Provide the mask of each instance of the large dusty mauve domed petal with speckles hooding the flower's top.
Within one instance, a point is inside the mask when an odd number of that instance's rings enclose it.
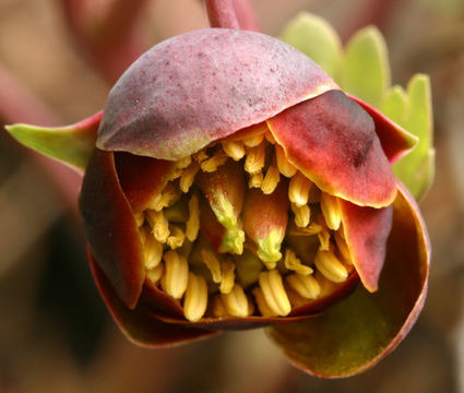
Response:
[[[336,84],[289,45],[209,28],[160,43],[112,87],[97,146],[178,159]]]

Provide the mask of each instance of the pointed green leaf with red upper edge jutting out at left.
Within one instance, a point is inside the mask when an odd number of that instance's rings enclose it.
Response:
[[[103,112],[67,127],[38,127],[29,124],[5,126],[23,145],[58,159],[82,172],[95,148],[97,129]]]

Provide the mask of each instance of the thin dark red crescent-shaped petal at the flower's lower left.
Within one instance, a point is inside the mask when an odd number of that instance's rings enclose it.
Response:
[[[112,289],[111,284],[91,252],[88,252],[88,261],[95,283],[111,317],[122,333],[135,344],[162,347],[217,334],[217,332],[211,330],[185,327],[179,324],[162,322],[151,315],[143,306],[138,306],[133,310],[129,309]]]

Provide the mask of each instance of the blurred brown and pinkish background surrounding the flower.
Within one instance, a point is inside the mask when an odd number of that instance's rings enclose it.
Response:
[[[207,26],[200,1],[134,0],[139,13],[124,11],[102,27],[116,2],[0,0],[0,124],[88,117],[130,59]],[[437,177],[421,209],[433,251],[418,323],[380,365],[346,380],[294,369],[260,330],[139,348],[112,323],[94,287],[75,209],[79,178],[0,131],[0,393],[464,392],[464,1],[251,2],[270,35],[302,10],[325,17],[345,41],[376,24],[393,83],[430,74]],[[120,35],[128,25],[131,33]],[[95,37],[118,45],[106,50]]]

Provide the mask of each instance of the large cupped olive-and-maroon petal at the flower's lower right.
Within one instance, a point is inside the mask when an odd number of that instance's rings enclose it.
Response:
[[[269,333],[295,365],[320,377],[347,377],[391,353],[416,321],[427,293],[429,239],[419,210],[403,186],[379,291],[362,287],[312,320]]]

